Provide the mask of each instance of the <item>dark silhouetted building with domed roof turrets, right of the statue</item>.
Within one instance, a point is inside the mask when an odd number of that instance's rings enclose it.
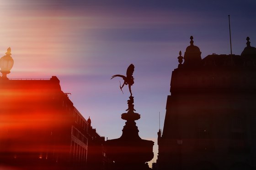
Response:
[[[256,168],[256,48],[238,55],[208,55],[187,47],[172,72],[159,170]],[[183,62],[183,63],[182,63]]]

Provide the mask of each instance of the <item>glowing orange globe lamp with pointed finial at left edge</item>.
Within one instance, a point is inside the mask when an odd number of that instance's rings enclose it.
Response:
[[[2,80],[9,80],[9,78],[6,77],[6,75],[10,73],[13,63],[14,61],[11,57],[11,48],[9,47],[7,49],[7,52],[5,52],[5,56],[0,58],[0,72],[2,73]]]

